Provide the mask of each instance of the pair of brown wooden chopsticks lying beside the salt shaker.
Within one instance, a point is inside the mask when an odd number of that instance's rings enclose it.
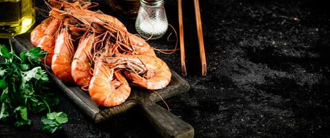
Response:
[[[199,37],[199,55],[201,57],[202,75],[206,75],[206,58],[203,40],[203,30],[201,26],[201,12],[199,10],[199,0],[194,0],[197,34]],[[181,69],[183,76],[187,75],[185,68],[185,43],[183,37],[183,18],[182,18],[182,0],[178,0],[178,28],[180,32],[180,51],[181,51]]]

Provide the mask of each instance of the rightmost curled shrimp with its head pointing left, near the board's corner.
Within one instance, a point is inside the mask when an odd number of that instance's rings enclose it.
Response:
[[[125,69],[127,79],[149,90],[165,88],[172,73],[167,64],[158,57],[149,55],[120,55],[105,57],[111,68]]]

